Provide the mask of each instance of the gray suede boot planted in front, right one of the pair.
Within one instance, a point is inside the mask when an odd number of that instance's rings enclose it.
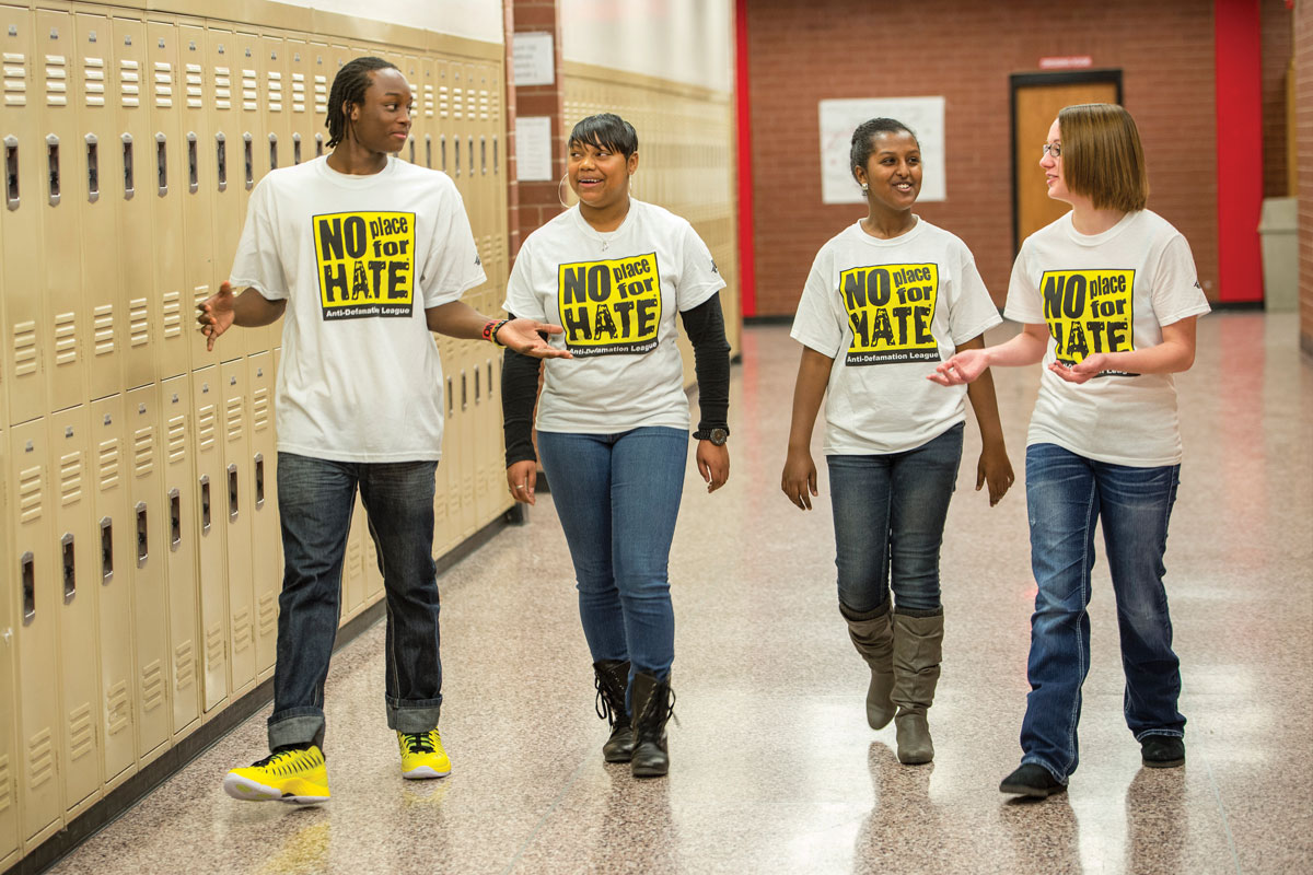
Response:
[[[926,711],[935,701],[943,657],[944,615],[909,617],[894,613],[894,689],[898,706],[898,762],[916,765],[935,758]]]

